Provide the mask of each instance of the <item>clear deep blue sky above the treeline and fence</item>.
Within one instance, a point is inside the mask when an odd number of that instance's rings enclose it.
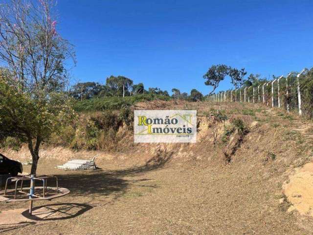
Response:
[[[57,14],[75,46],[75,80],[124,75],[207,94],[213,64],[264,77],[313,67],[312,0],[59,0]]]

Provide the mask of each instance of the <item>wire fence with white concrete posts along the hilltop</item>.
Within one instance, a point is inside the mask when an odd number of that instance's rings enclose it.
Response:
[[[313,118],[313,68],[291,72],[267,81],[256,80],[251,86],[221,91],[207,96],[211,102],[247,102],[278,107]]]

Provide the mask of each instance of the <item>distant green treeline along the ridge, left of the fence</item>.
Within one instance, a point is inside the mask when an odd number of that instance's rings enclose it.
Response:
[[[190,94],[187,94],[173,88],[172,93],[170,96],[167,91],[157,87],[146,90],[143,83],[134,84],[133,80],[124,76],[110,76],[105,85],[97,82],[79,82],[68,91],[69,96],[76,100],[73,102],[73,107],[78,112],[117,110],[123,105],[154,99],[175,98],[189,101],[203,99],[203,94],[196,89],[192,89]]]

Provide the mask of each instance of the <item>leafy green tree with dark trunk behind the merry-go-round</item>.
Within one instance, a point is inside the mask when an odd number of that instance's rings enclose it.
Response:
[[[0,77],[0,138],[14,137],[28,143],[35,174],[39,160],[39,149],[52,132],[57,132],[60,123],[75,117],[65,95],[49,93],[49,97],[34,98],[29,93],[19,92],[12,83],[14,79]]]

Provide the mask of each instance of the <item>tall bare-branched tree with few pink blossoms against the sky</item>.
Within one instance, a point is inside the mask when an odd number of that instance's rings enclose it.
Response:
[[[62,89],[73,47],[56,31],[52,0],[11,0],[0,5],[0,60],[21,92],[42,96]],[[39,93],[41,95],[39,95]]]

